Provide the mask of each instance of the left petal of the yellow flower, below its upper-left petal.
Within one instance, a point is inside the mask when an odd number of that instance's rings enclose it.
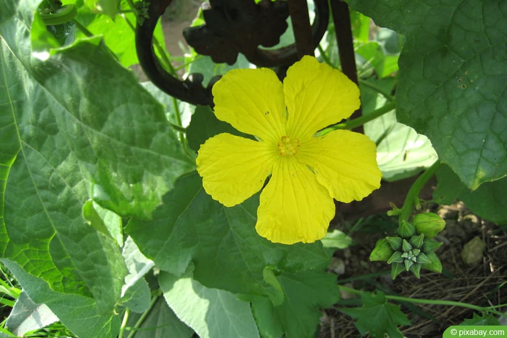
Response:
[[[276,149],[266,142],[222,133],[199,148],[197,171],[206,193],[226,207],[261,190],[270,174]]]

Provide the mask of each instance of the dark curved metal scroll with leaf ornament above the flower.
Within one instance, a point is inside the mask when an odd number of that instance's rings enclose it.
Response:
[[[262,0],[210,0],[211,7],[203,10],[206,24],[184,30],[185,39],[203,55],[211,56],[216,63],[235,62],[238,53],[258,66],[288,66],[298,60],[296,45],[276,50],[259,48],[278,43],[287,28],[288,8],[285,1]],[[161,90],[180,100],[192,104],[212,105],[211,87],[219,77],[211,79],[207,87],[202,85],[200,73],[190,74],[184,81],[167,72],[153,49],[153,32],[158,19],[172,0],[151,0],[147,18],[137,20],[135,45],[139,64],[148,78]],[[315,20],[312,35],[315,47],[328,27],[329,9],[327,0],[314,0]]]

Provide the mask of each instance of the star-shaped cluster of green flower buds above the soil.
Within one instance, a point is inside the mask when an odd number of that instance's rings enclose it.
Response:
[[[391,265],[391,278],[411,271],[420,278],[421,269],[442,272],[442,263],[435,250],[442,243],[432,240],[445,227],[445,220],[434,213],[418,214],[412,223],[403,221],[398,236],[377,241],[370,260],[384,260]]]

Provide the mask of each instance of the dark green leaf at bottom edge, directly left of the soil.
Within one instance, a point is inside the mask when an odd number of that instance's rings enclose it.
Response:
[[[274,307],[285,337],[310,337],[322,316],[319,308],[338,302],[340,292],[336,275],[323,271],[281,272],[277,276],[285,294],[281,305]]]

